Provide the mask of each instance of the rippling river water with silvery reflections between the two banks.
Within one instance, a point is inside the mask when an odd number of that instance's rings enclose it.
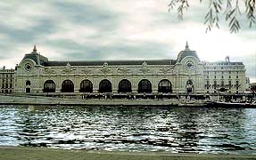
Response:
[[[256,109],[0,106],[0,145],[256,155]]]

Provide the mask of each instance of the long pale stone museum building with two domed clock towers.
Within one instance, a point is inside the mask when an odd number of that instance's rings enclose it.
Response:
[[[37,52],[16,66],[14,92],[52,94],[239,93],[243,62],[206,62],[186,49],[176,60],[51,61]]]

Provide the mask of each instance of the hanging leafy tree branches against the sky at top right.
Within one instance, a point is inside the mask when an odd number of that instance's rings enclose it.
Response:
[[[202,3],[203,0],[200,0]],[[245,19],[249,22],[249,28],[255,25],[255,1],[256,0],[207,0],[209,10],[205,14],[204,24],[207,25],[206,32],[211,31],[211,28],[219,28],[220,14],[223,13],[225,20],[228,21],[228,28],[231,33],[239,31],[240,22],[238,17],[241,15],[240,8],[243,3],[245,6]],[[184,10],[189,8],[191,0],[170,0],[168,5],[169,11],[177,9],[178,19],[183,19]]]

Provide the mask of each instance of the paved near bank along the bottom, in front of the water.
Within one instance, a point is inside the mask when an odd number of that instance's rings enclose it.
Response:
[[[108,152],[88,150],[64,150],[53,148],[0,147],[0,159],[6,160],[71,160],[71,159],[115,159],[115,160],[168,160],[168,159],[256,159],[251,155],[213,155],[213,154],[169,154],[162,152]]]

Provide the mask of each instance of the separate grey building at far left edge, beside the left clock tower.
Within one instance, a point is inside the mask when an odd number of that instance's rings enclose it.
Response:
[[[14,69],[0,68],[0,93],[12,93],[14,88]]]

